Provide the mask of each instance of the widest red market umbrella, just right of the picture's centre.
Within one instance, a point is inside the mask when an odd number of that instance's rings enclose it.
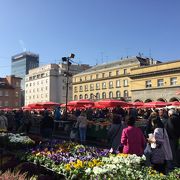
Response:
[[[105,106],[105,107],[116,107],[116,106],[128,106],[128,103],[120,100],[115,100],[115,99],[104,99],[98,101],[99,105]]]

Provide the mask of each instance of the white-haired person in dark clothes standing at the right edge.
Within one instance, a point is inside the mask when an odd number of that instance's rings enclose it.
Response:
[[[169,118],[166,123],[166,130],[169,136],[169,142],[173,154],[173,167],[176,167],[179,164],[178,143],[180,137],[180,118],[173,109],[168,111],[168,116]]]

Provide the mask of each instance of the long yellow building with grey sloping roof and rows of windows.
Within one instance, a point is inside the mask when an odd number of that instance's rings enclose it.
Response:
[[[148,66],[152,61],[142,57],[121,59],[96,65],[73,76],[73,99],[122,99],[131,101],[131,70]],[[155,63],[155,61],[154,61]]]

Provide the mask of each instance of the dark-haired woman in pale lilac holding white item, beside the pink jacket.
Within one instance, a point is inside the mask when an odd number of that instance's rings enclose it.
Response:
[[[165,174],[166,161],[172,160],[169,138],[159,117],[152,118],[151,123],[154,129],[153,135],[148,138],[151,147],[153,146],[151,163],[156,171]]]

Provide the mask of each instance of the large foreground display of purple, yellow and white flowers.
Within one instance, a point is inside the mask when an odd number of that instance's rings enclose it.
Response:
[[[31,149],[25,160],[46,167],[65,179],[139,179],[155,180],[179,177],[179,171],[169,176],[144,167],[145,156],[111,154],[109,150],[65,141],[51,141]]]

